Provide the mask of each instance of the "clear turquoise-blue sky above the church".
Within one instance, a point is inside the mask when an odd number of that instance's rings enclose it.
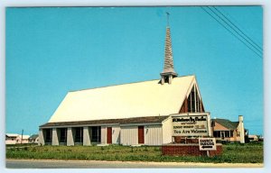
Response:
[[[218,9],[262,47],[260,6]],[[205,110],[263,134],[263,59],[200,6],[7,8],[6,132],[37,133],[68,91],[159,78],[165,12],[175,71],[196,75]]]

